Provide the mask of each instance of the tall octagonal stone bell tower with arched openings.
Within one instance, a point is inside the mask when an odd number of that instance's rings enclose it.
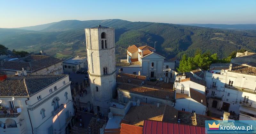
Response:
[[[116,93],[114,28],[86,28],[85,36],[93,109],[106,114]]]

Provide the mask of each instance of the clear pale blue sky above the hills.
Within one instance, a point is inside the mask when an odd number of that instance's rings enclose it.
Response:
[[[115,18],[173,24],[255,24],[255,7],[256,0],[4,0],[0,2],[0,27]]]

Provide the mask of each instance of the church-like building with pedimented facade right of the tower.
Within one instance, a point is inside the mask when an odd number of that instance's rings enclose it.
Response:
[[[127,62],[124,64],[122,62]],[[132,45],[127,48],[127,60],[116,63],[117,73],[147,76],[151,79],[175,79],[175,62],[156,53],[150,46]]]

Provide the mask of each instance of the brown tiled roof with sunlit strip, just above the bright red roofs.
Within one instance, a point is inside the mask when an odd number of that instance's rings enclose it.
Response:
[[[130,121],[131,125],[142,126],[146,119],[177,122],[177,116],[178,110],[172,106],[160,104],[157,107],[157,105],[146,104],[131,107],[124,119]]]

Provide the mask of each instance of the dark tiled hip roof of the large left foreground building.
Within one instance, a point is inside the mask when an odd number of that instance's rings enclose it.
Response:
[[[0,97],[32,96],[36,92],[66,76],[68,75],[8,75],[4,81],[0,81]]]

